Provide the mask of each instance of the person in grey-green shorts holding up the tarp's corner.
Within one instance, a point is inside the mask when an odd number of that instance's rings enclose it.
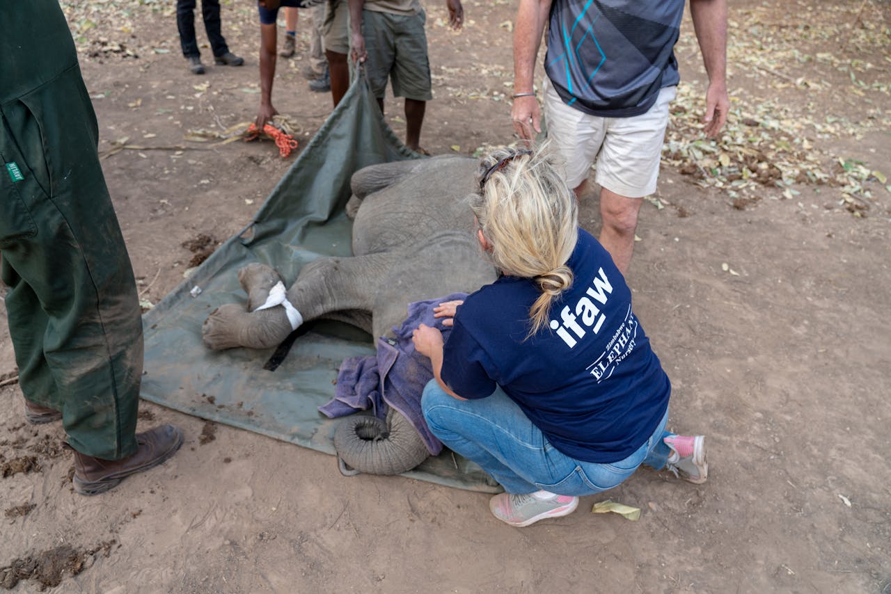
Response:
[[[446,0],[449,24],[464,22],[461,0]],[[368,83],[381,113],[388,78],[396,97],[405,97],[405,144],[421,149],[421,125],[433,99],[427,55],[426,15],[418,0],[349,0],[353,60],[365,62]],[[367,61],[366,61],[367,59]]]

